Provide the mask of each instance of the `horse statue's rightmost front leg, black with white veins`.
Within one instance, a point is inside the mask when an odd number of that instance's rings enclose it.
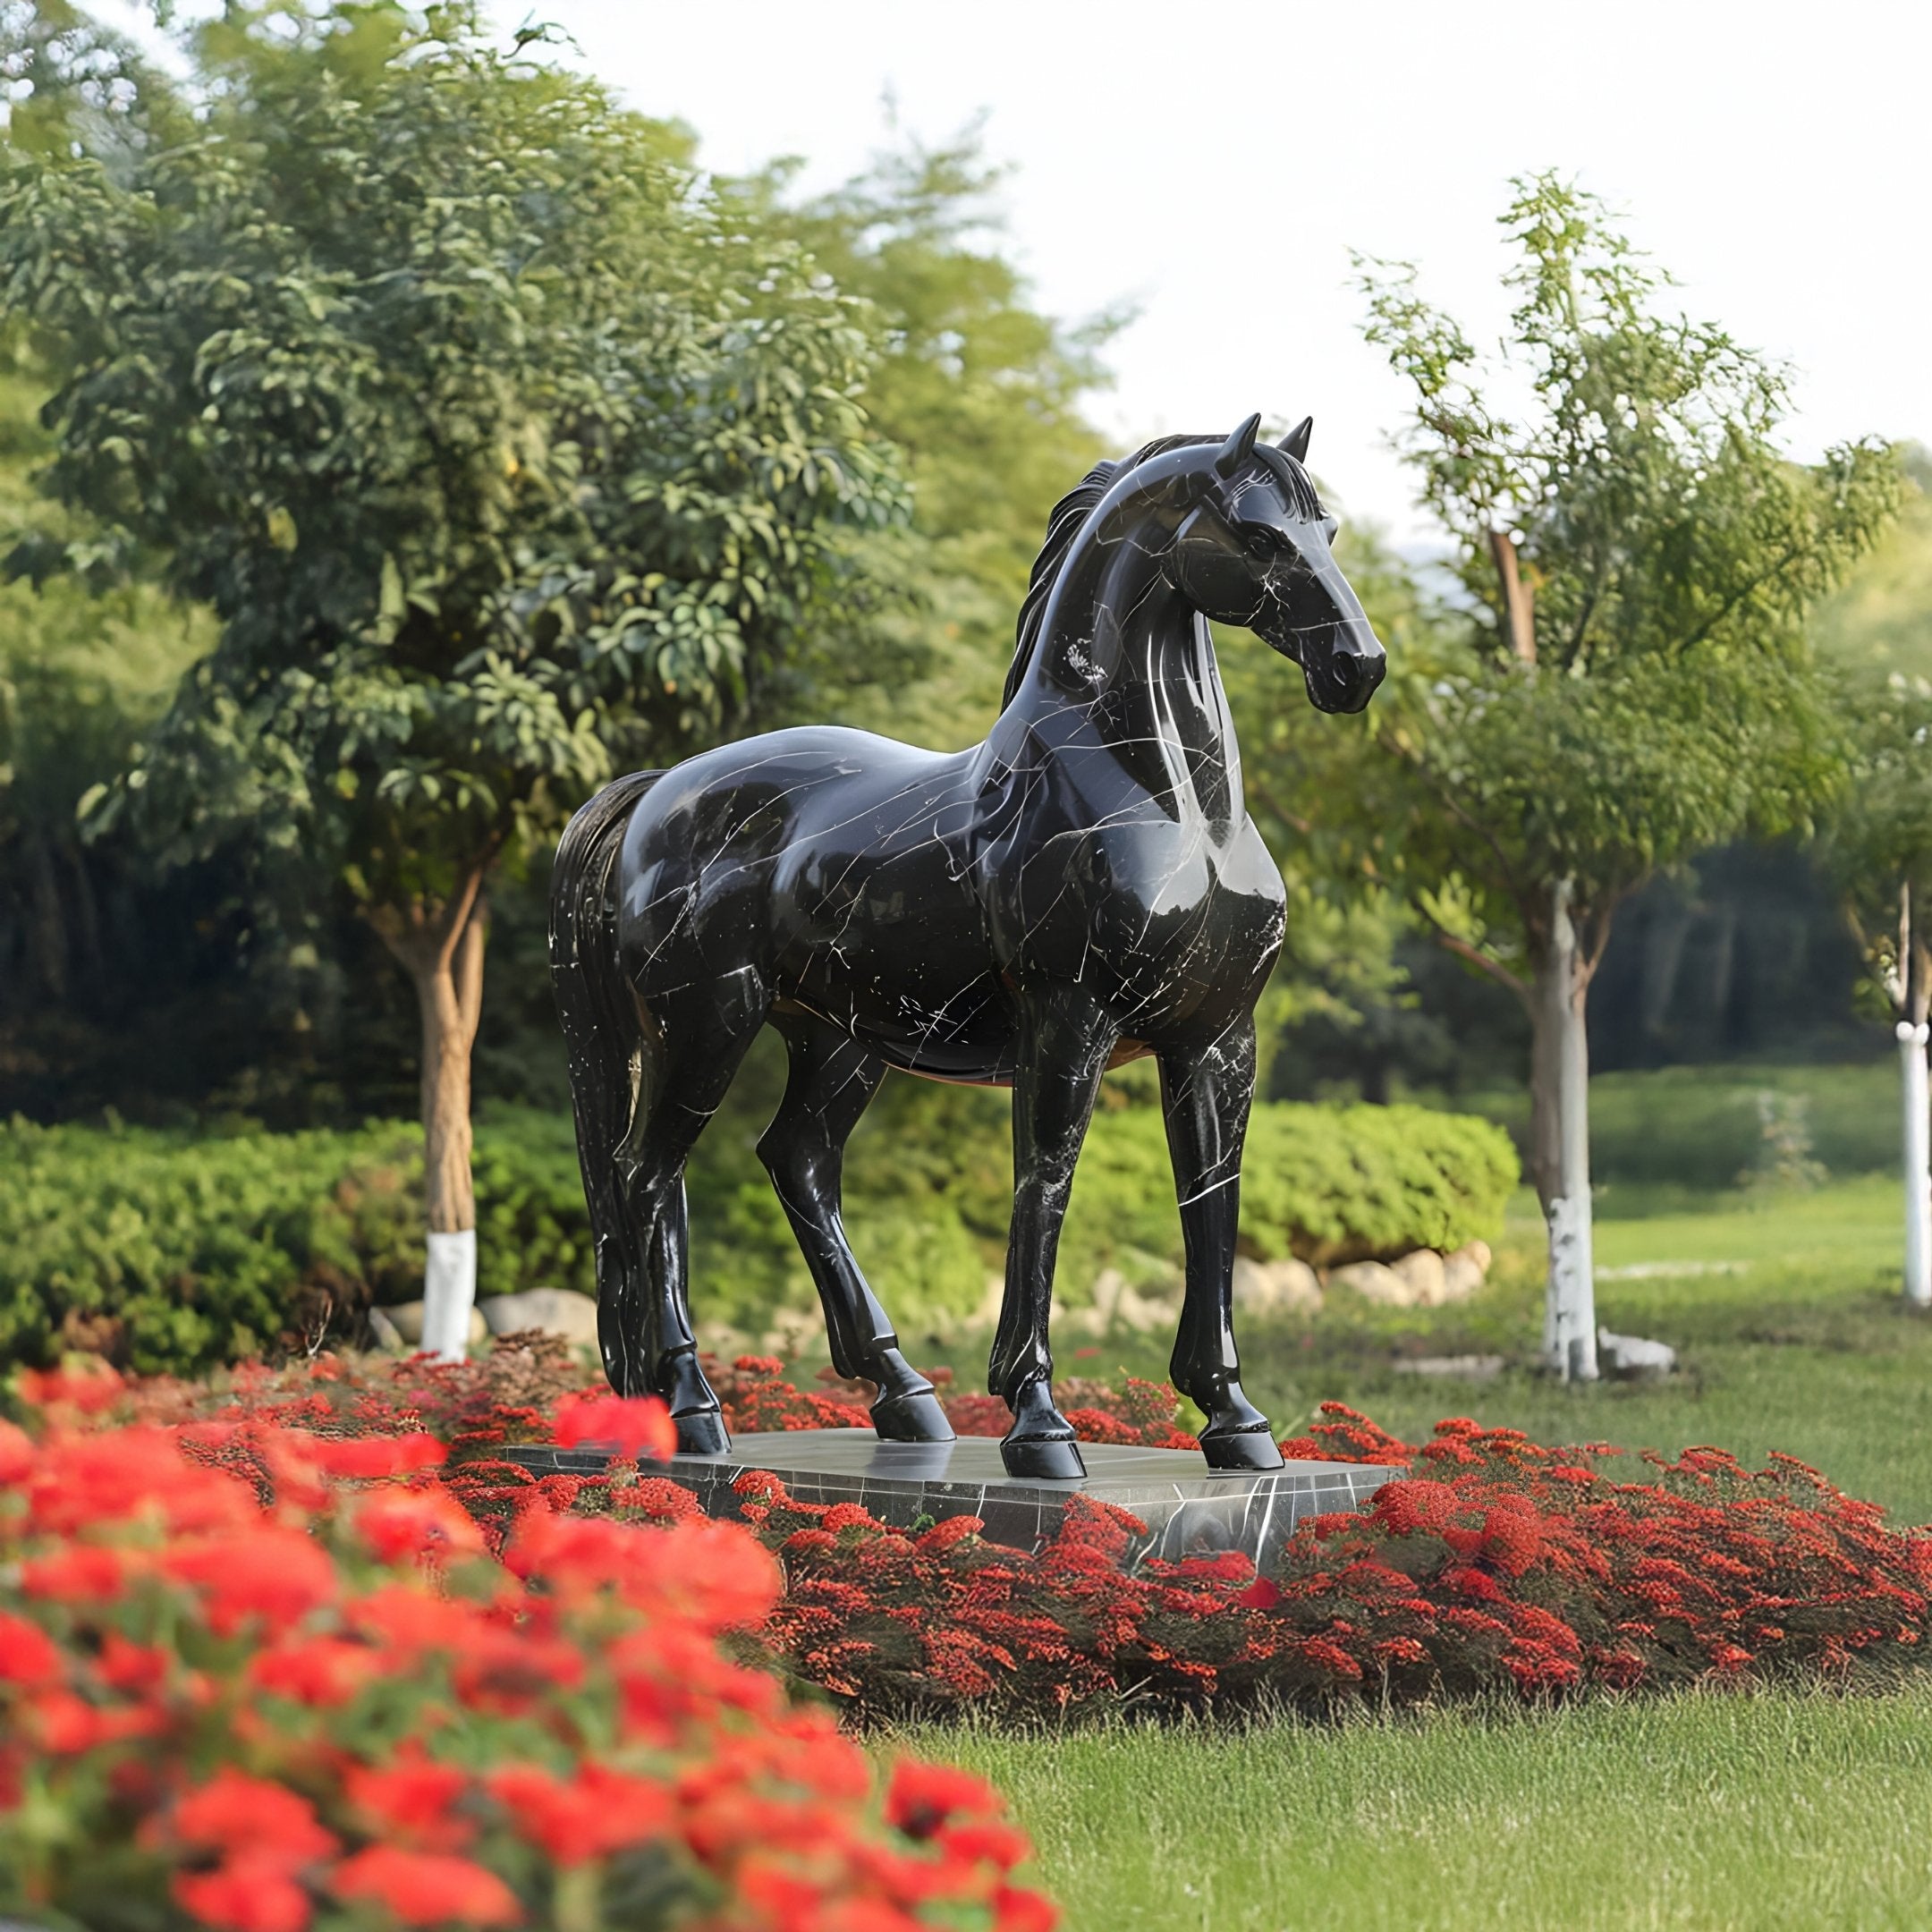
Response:
[[[1213,1037],[1161,1051],[1161,1105],[1180,1196],[1188,1287],[1171,1374],[1208,1416],[1209,1468],[1281,1468],[1273,1432],[1240,1393],[1235,1352],[1235,1233],[1240,1146],[1254,1101],[1254,1016]]]

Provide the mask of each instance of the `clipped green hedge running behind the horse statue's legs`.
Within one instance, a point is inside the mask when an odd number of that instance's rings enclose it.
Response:
[[[854,1248],[908,1331],[980,1304],[1010,1186],[1001,1097],[923,1092],[933,1099],[867,1122],[846,1180]],[[753,1140],[721,1121],[690,1194],[694,1312],[757,1333],[777,1306],[813,1296]],[[402,1122],[197,1136],[14,1121],[0,1126],[0,1362],[89,1349],[141,1374],[199,1374],[354,1333],[367,1306],[421,1293],[421,1151]],[[485,1117],[475,1179],[479,1293],[593,1293],[566,1117]],[[1486,1121],[1269,1105],[1250,1130],[1242,1233],[1264,1260],[1455,1248],[1495,1233],[1515,1180],[1515,1151]],[[1159,1109],[1107,1109],[1074,1186],[1063,1300],[1088,1300],[1103,1267],[1146,1285],[1179,1265]]]

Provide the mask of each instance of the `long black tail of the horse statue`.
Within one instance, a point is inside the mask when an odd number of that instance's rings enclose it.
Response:
[[[638,1003],[616,951],[612,873],[638,800],[663,777],[636,771],[607,784],[564,827],[551,869],[551,983],[570,1061],[583,1200],[591,1213],[601,1314],[643,1265],[624,1208],[618,1151],[630,1132],[641,1076]],[[599,1323],[603,1329],[603,1323]],[[614,1337],[603,1333],[605,1370]]]

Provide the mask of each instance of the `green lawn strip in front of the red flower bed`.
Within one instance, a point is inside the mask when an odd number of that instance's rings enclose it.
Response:
[[[1066,1932],[1932,1922],[1928,1687],[912,1743],[1010,1795]]]

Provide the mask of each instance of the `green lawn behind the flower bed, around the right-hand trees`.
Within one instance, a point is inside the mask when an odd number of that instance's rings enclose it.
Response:
[[[1932,1320],[1897,1293],[1895,1180],[1833,1180],[1806,1194],[1615,1190],[1596,1225],[1602,1269],[1687,1264],[1685,1273],[1598,1283],[1598,1318],[1671,1343],[1681,1374],[1660,1387],[1563,1387],[1530,1366],[1542,1306],[1542,1223],[1513,1208],[1490,1285],[1455,1308],[1331,1306],[1316,1320],[1248,1321],[1248,1393],[1283,1434],[1323,1401],[1366,1410],[1408,1439],[1476,1416],[1544,1441],[1611,1441],[1675,1455],[1718,1443],[1762,1463],[1779,1449],[1905,1522],[1932,1520]],[[1735,1271],[1710,1271],[1719,1264]],[[1059,1350],[1066,1374],[1165,1376],[1171,1337],[1111,1335]],[[1399,1356],[1501,1354],[1486,1381],[1399,1374]],[[983,1374],[958,1352],[966,1383]],[[1928,1905],[1932,1922],[1932,1905]]]

